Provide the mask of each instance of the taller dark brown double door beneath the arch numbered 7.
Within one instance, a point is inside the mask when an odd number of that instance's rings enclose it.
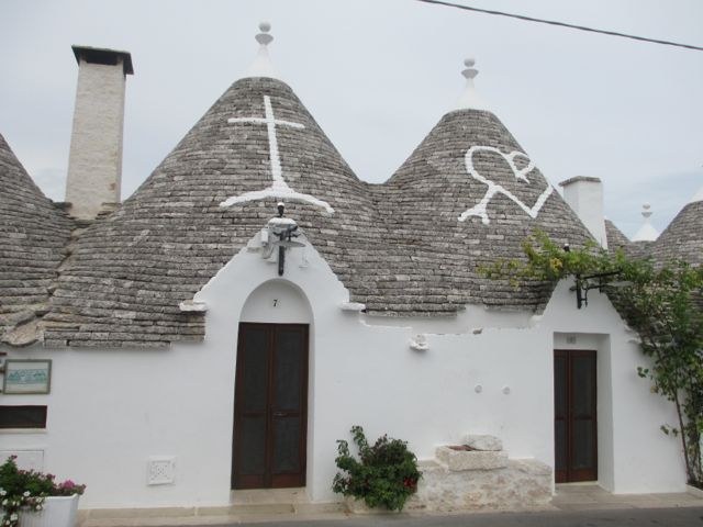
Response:
[[[304,486],[308,326],[239,324],[232,489]]]

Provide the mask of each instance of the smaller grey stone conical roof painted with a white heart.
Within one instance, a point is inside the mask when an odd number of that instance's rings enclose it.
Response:
[[[487,279],[480,268],[523,258],[536,231],[557,243],[582,246],[590,234],[490,111],[447,113],[387,183],[395,195],[389,228],[423,239],[428,271],[453,291],[457,305],[479,303],[540,311],[546,283]]]

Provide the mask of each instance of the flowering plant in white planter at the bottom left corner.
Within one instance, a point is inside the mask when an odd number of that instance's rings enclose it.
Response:
[[[33,470],[20,470],[15,456],[0,466],[0,526],[74,527],[86,485]],[[20,523],[21,518],[21,523]]]

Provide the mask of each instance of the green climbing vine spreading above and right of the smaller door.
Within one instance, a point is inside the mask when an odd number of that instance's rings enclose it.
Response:
[[[499,260],[483,272],[516,285],[567,277],[582,288],[600,283],[650,358],[648,367],[638,368],[639,377],[649,379],[651,391],[673,403],[678,423],[661,429],[680,437],[689,483],[703,487],[703,267],[657,264],[594,245],[565,250],[544,233],[527,238],[523,250],[526,258]],[[614,280],[621,282],[617,288]]]

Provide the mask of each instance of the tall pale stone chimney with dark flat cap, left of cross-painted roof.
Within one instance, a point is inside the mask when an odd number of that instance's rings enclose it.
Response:
[[[103,203],[120,203],[125,79],[134,69],[127,52],[86,46],[72,49],[78,87],[66,201],[71,215],[91,220]]]

